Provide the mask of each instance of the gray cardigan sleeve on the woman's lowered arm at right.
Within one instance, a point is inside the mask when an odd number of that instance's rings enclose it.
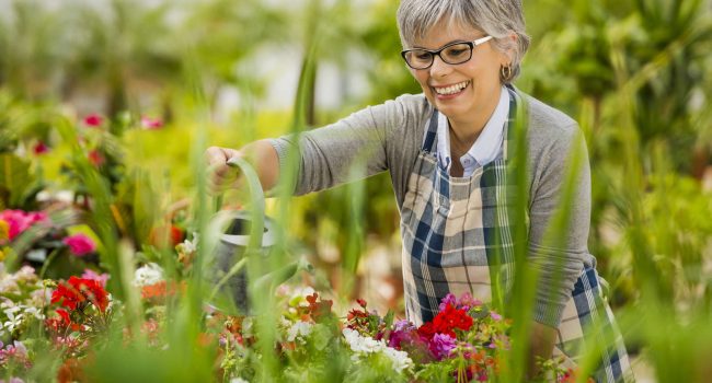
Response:
[[[559,130],[538,163],[529,206],[529,263],[539,271],[535,321],[558,327],[585,264],[593,264],[587,240],[590,167],[578,126]]]

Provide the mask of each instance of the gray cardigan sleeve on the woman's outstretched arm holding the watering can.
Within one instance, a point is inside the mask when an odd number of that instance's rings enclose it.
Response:
[[[414,127],[423,114],[423,96],[403,95],[369,106],[334,124],[273,139],[279,173],[296,172],[295,195],[303,195],[390,170],[394,179],[407,173],[407,155],[417,152]],[[296,149],[296,161],[288,161]]]

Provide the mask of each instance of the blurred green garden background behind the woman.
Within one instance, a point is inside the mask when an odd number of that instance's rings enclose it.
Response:
[[[116,195],[135,196],[124,179],[138,170],[162,190],[156,205],[140,206],[160,206],[177,221],[195,183],[187,159],[196,131],[208,132],[208,144],[238,148],[287,134],[296,120],[318,127],[418,93],[399,55],[397,8],[394,0],[0,0],[0,153],[7,166],[12,158],[33,170],[26,187],[14,188],[5,170],[0,207],[30,209],[39,190],[81,195],[45,118],[59,111],[115,121],[101,153],[113,164],[106,176]],[[696,338],[694,324],[712,323],[712,2],[527,0],[525,10],[532,45],[515,84],[586,135],[589,249],[639,375],[710,373],[698,358],[712,355],[712,343]],[[140,206],[134,199],[123,212],[158,213]],[[356,248],[354,295],[402,309],[387,175],[296,198],[290,209],[295,252],[323,280],[338,286],[344,252]],[[150,227],[127,233],[142,243]],[[650,326],[636,326],[641,315]]]

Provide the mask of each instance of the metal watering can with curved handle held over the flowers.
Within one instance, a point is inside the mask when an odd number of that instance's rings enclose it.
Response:
[[[266,263],[274,256],[273,251],[277,244],[277,224],[264,216],[264,193],[256,173],[252,166],[240,158],[228,161],[228,165],[239,167],[250,186],[251,204],[254,211],[238,210],[233,212],[219,212],[214,220],[227,221],[227,229],[219,235],[215,248],[215,264],[210,268],[214,290],[209,301],[220,294],[229,300],[228,305],[233,305],[239,314],[253,314],[251,304],[250,286],[261,293],[272,294],[279,283],[291,278],[299,270],[311,271],[313,268],[306,259],[287,263],[277,269],[248,279],[248,262]],[[221,197],[217,197],[216,205],[221,206]],[[227,217],[226,217],[227,214]],[[252,277],[252,276],[251,276]]]

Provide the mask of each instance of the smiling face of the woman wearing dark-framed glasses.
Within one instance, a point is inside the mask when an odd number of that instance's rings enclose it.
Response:
[[[482,31],[472,27],[440,22],[424,39],[416,40],[415,47],[436,50],[453,42],[472,42],[484,36]],[[449,65],[435,56],[432,67],[411,68],[430,104],[451,121],[486,121],[498,102],[499,68],[510,60],[492,44],[490,40],[475,46],[472,58],[463,63]]]

